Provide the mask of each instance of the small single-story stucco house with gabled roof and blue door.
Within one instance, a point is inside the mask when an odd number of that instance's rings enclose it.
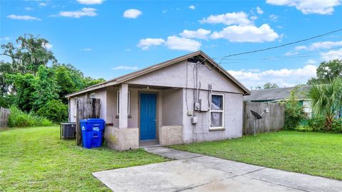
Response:
[[[249,90],[202,51],[66,95],[100,99],[105,139],[118,150],[242,136],[243,96]]]

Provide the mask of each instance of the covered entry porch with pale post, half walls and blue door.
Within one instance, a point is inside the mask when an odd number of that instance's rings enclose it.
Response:
[[[105,140],[118,149],[182,143],[182,88],[120,84],[107,87]]]

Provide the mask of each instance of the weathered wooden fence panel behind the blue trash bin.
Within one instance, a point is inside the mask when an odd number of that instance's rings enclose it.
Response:
[[[76,100],[76,144],[82,143],[81,119],[100,117],[100,99],[78,98]]]

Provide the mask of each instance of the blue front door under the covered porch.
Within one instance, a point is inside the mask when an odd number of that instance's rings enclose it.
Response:
[[[140,140],[155,139],[157,95],[140,93]]]

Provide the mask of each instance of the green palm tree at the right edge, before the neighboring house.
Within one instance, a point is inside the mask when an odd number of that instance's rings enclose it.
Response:
[[[324,127],[330,130],[335,112],[342,106],[342,78],[335,78],[328,84],[313,85],[309,97],[314,115],[323,116]]]

